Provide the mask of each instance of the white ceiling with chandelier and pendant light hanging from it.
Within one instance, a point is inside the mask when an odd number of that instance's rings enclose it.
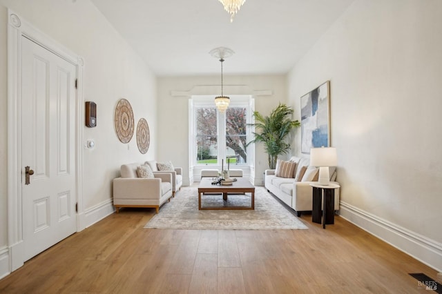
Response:
[[[233,20],[218,0],[92,0],[157,76],[285,74],[354,0],[247,0]]]

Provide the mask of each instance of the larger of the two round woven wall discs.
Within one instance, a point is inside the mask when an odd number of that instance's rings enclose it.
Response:
[[[115,108],[115,130],[119,141],[123,143],[131,141],[134,129],[132,106],[126,99],[120,99]]]

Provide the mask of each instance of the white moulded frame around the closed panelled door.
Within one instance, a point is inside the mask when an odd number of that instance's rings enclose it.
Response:
[[[77,231],[81,231],[79,215],[82,213],[81,140],[84,117],[82,77],[84,61],[64,48],[30,23],[8,9],[8,253],[10,271],[23,266],[23,215],[21,199],[21,38],[26,37],[50,52],[72,63],[77,68],[75,164],[77,190]]]

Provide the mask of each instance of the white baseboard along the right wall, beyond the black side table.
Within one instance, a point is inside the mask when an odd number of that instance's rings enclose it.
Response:
[[[423,264],[434,268],[438,272],[442,271],[441,243],[343,201],[340,202],[339,215],[364,231],[407,253],[407,255],[418,259]]]

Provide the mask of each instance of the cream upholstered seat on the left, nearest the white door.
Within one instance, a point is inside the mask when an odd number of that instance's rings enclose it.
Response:
[[[121,177],[113,179],[113,206],[119,212],[120,207],[153,207],[158,213],[160,206],[172,197],[171,173],[154,172],[154,179],[137,176],[137,166],[142,164],[123,164]]]

